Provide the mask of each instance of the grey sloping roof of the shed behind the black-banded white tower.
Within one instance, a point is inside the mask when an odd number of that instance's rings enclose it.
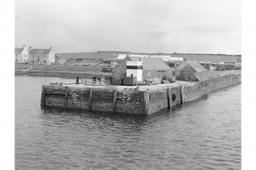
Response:
[[[132,61],[141,61],[143,62],[144,70],[170,70],[170,66],[168,66],[162,59],[152,58],[152,57],[138,57],[138,56],[128,56]]]

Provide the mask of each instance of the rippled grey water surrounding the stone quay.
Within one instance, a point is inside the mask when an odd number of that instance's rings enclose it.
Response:
[[[241,169],[241,85],[148,117],[41,110],[15,76],[16,169]]]

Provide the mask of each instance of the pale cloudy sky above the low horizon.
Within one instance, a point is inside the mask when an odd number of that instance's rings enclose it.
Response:
[[[240,0],[15,0],[15,47],[241,54]]]

